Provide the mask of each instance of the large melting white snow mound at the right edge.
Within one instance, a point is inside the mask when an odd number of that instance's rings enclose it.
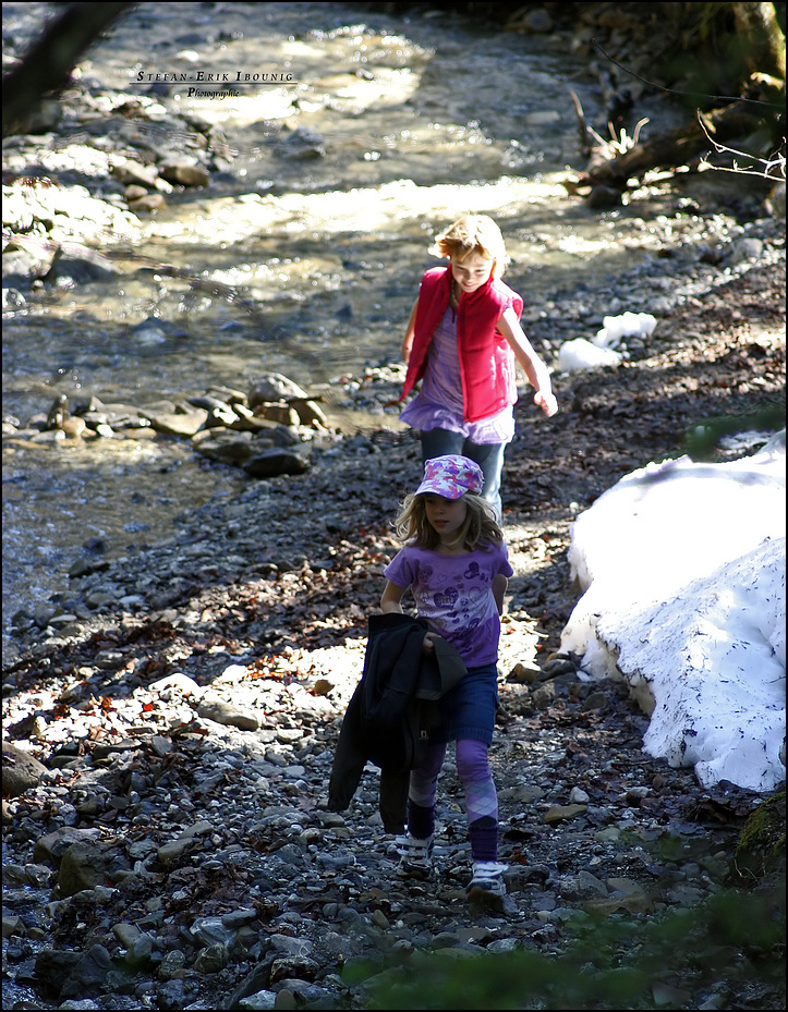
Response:
[[[785,780],[785,434],[725,464],[626,475],[572,525],[561,649],[626,679],[644,749],[704,787]]]

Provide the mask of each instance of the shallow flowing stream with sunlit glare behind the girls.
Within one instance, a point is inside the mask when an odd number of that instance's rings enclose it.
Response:
[[[4,48],[8,36],[24,51],[51,13],[3,3]],[[586,64],[566,33],[505,33],[443,5],[408,15],[360,3],[136,4],[77,69],[93,120],[66,114],[40,138],[39,168],[61,185],[69,171],[75,185],[80,171],[108,174],[110,145],[88,127],[100,117],[117,125],[123,103],[140,102],[146,119],[129,118],[124,136],[141,150],[156,131],[196,150],[205,131],[183,129],[195,120],[220,131],[210,184],[175,188],[155,215],[124,210],[111,228],[74,216],[66,228],[111,272],[4,300],[5,412],[25,424],[61,393],[147,404],[245,391],[274,370],[341,389],[339,377],[399,361],[421,272],[436,263],[429,242],[464,211],[501,225],[507,281],[549,361],[549,318],[568,312],[557,293],[574,293],[582,319],[584,292],[729,224],[658,186],[605,212],[568,195],[562,180],[584,164],[570,89],[590,119],[602,111]],[[196,89],[181,80],[198,74]],[[84,102],[66,93],[64,105]],[[592,322],[573,336],[591,337]],[[185,442],[7,439],[4,653],[11,617],[68,595],[89,539],[114,554],[154,544],[186,507],[248,480]]]

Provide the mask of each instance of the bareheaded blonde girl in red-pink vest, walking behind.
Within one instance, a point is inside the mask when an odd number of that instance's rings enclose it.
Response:
[[[558,411],[550,376],[520,327],[523,301],[500,280],[509,263],[500,229],[485,215],[464,215],[438,235],[431,252],[449,258],[423,277],[402,342],[408,364],[400,418],[421,434],[423,463],[446,454],[475,461],[484,498],[501,522],[506,444],[514,436],[517,363],[534,388],[534,403]]]

